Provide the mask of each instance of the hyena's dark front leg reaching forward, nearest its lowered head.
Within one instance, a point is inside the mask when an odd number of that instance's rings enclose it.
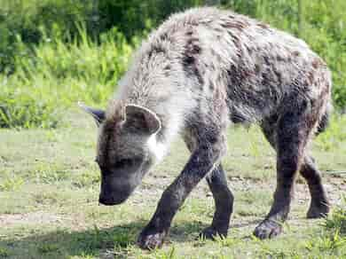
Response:
[[[198,136],[202,137],[196,144],[190,160],[182,173],[163,192],[156,211],[145,229],[139,234],[138,245],[142,248],[161,247],[166,238],[173,216],[183,204],[187,195],[215,168],[225,151],[223,132],[217,127],[200,125]],[[201,130],[207,130],[202,132]]]

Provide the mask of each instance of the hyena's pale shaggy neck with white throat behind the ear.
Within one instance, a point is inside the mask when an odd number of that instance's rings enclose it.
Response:
[[[196,106],[181,62],[163,54],[172,54],[174,48],[167,48],[168,45],[153,48],[151,43],[145,43],[119,83],[116,95],[122,103],[143,106],[160,118],[161,130],[148,143],[159,161],[185,127],[188,111]]]

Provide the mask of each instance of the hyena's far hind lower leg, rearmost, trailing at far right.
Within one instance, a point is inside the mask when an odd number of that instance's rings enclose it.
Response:
[[[326,190],[322,184],[321,173],[318,171],[312,157],[307,155],[304,157],[300,173],[309,185],[311,193],[311,204],[307,217],[326,217],[329,213],[330,205],[326,197]]]

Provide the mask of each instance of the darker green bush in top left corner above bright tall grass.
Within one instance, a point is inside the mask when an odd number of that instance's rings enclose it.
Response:
[[[0,72],[12,73],[13,58],[25,56],[30,48],[40,43],[42,29],[59,39],[68,40],[77,34],[76,22],[89,22],[92,4],[83,0],[17,0],[0,4]],[[20,52],[17,38],[28,44],[27,52]]]

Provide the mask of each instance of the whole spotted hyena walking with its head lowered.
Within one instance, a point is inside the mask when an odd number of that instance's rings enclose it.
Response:
[[[326,216],[326,191],[306,147],[326,126],[331,85],[325,62],[292,35],[215,8],[173,15],[139,48],[106,112],[83,106],[99,125],[99,202],[126,200],[181,135],[191,157],[163,192],[138,245],[162,245],[177,209],[204,177],[216,211],[201,235],[225,236],[233,205],[220,162],[226,128],[257,123],[277,152],[277,188],[255,235],[281,232],[297,171],[311,192],[307,216]]]

